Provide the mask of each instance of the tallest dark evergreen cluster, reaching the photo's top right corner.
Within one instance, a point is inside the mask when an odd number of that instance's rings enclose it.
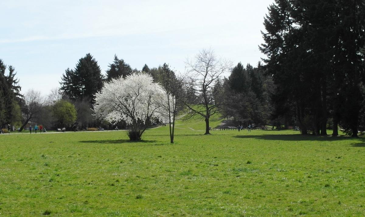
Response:
[[[332,119],[357,136],[364,81],[365,4],[276,0],[261,51],[276,89],[274,115],[292,114],[301,132],[326,135]]]

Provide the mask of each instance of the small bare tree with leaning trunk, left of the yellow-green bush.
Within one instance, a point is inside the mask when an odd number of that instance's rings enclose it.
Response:
[[[24,106],[22,108],[23,124],[20,131],[28,124],[29,121],[37,119],[42,114],[42,110],[46,105],[46,99],[41,96],[41,92],[30,89],[24,95]]]

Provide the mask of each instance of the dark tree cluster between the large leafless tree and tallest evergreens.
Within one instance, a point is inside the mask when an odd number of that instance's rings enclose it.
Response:
[[[242,63],[235,66],[228,78],[216,82],[215,104],[222,104],[224,117],[233,117],[238,124],[267,124],[269,121],[272,80],[264,67]]]

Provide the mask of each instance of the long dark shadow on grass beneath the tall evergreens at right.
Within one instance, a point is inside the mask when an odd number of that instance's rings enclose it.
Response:
[[[237,135],[236,138],[241,139],[264,139],[264,140],[283,140],[283,141],[339,141],[339,140],[360,140],[361,142],[365,142],[365,137],[350,137],[350,136],[336,136],[332,137],[331,135],[327,136],[314,136],[314,135]],[[358,143],[354,143],[358,144]]]

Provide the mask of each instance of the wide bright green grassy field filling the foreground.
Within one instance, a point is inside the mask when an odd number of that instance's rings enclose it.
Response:
[[[0,135],[0,216],[365,213],[364,137],[176,127]]]

